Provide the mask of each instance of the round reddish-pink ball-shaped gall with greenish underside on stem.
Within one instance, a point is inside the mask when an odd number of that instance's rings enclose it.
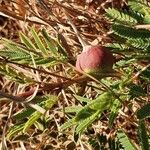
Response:
[[[112,53],[105,47],[87,46],[77,56],[76,69],[86,73],[111,72],[114,63]]]

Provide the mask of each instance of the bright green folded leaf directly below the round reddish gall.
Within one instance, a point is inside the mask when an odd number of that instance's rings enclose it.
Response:
[[[108,109],[112,104],[113,96],[109,92],[104,92],[97,99],[89,102],[85,107],[83,107],[76,116],[63,124],[61,127],[63,130],[77,125],[76,132],[77,134],[84,129],[86,129],[104,110]]]

